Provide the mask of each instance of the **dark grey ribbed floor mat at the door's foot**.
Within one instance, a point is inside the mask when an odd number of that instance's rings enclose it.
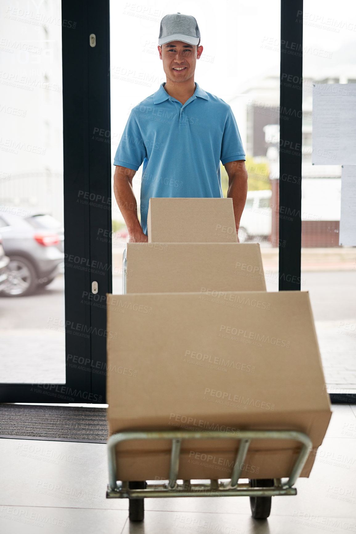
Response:
[[[0,437],[106,443],[106,408],[0,404]]]

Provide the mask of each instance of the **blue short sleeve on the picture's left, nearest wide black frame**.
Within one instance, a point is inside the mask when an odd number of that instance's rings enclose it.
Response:
[[[145,158],[144,139],[132,110],[115,153],[114,165],[138,170]]]

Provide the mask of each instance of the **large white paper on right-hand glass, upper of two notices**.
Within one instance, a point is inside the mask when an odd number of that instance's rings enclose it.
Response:
[[[356,164],[356,84],[313,84],[312,163]]]

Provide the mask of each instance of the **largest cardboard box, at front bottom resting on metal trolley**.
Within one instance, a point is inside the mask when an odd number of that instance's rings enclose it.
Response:
[[[110,434],[299,430],[313,443],[309,475],[331,412],[307,292],[108,294],[107,320]],[[228,478],[237,446],[184,441],[178,478]],[[170,448],[121,444],[118,480],[167,478]],[[298,451],[293,441],[252,441],[242,477],[289,476]]]

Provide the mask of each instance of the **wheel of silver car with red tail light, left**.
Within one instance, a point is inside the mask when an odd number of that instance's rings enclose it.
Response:
[[[33,264],[22,256],[10,256],[7,265],[7,285],[1,295],[22,297],[30,295],[37,287],[37,275]]]

